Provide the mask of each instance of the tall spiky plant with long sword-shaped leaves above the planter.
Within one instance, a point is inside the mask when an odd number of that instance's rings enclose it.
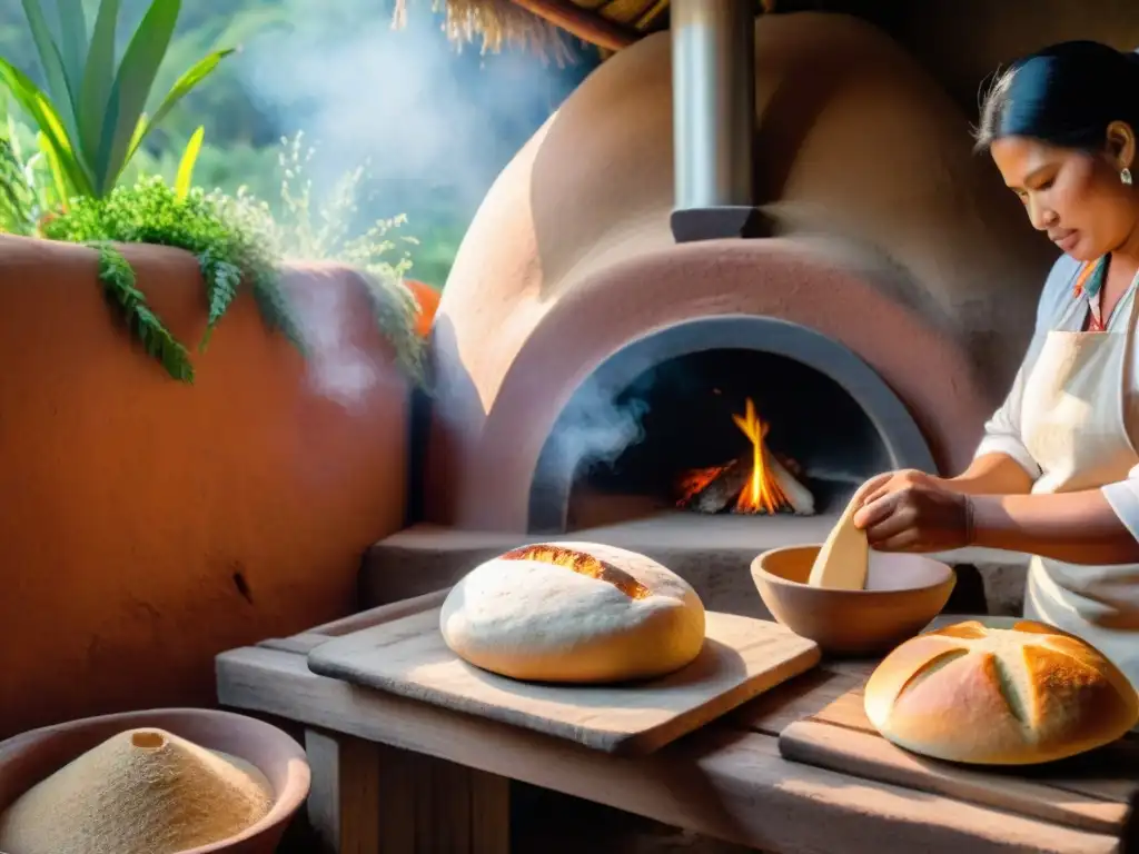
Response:
[[[147,117],[147,100],[170,47],[181,0],[153,0],[117,68],[115,30],[121,0],[100,0],[90,36],[82,0],[56,0],[58,42],[39,0],[22,2],[48,93],[2,58],[0,82],[43,134],[42,150],[65,202],[73,196],[107,196],[147,134],[232,52],[214,51],[196,63],[174,82],[154,116]],[[188,156],[192,159],[196,151]]]

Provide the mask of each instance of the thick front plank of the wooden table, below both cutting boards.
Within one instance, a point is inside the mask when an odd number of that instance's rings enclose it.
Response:
[[[218,658],[226,706],[440,756],[673,827],[782,854],[1118,854],[1117,838],[784,759],[768,736],[712,725],[648,757],[459,715],[313,674],[248,647]]]

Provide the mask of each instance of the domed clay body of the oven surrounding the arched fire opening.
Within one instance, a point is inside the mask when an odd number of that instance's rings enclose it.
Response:
[[[433,520],[524,529],[534,462],[576,384],[631,337],[724,311],[826,326],[863,350],[890,340],[911,360],[901,330],[925,336],[936,364],[961,366],[927,392],[961,404],[942,459],[967,458],[1023,355],[1055,249],[973,154],[964,113],[880,31],[762,17],[755,73],[756,192],[780,232],[770,249],[672,240],[667,34],[606,61],[502,172],[433,331]],[[808,268],[809,282],[787,272]],[[867,313],[879,303],[903,318]],[[844,314],[862,326],[838,335]],[[861,354],[888,375],[876,353]]]

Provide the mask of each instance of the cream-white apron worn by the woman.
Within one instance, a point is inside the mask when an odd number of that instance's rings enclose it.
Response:
[[[1130,377],[1136,285],[1103,332],[1050,331],[1025,377],[1021,430],[1042,470],[1033,493],[1092,490],[1126,479],[1139,463]],[[1139,688],[1139,564],[1077,566],[1033,557],[1024,616],[1077,634]]]

